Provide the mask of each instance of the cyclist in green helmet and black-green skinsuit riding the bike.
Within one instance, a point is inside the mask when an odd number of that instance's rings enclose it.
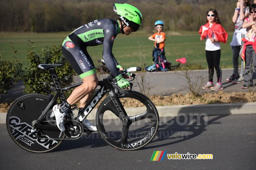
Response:
[[[86,103],[91,100],[93,91],[98,85],[96,70],[86,50],[87,46],[103,44],[103,59],[109,71],[116,77],[118,86],[126,89],[130,87],[129,81],[125,79],[128,77],[124,78],[119,73],[124,68],[116,61],[112,53],[112,47],[118,33],[121,32],[122,34],[129,35],[140,28],[142,14],[136,7],[129,4],[113,4],[113,6],[114,11],[119,16],[117,21],[112,19],[96,19],[77,28],[62,43],[63,55],[80,76],[83,84],[73,90],[66,103],[53,107],[56,125],[60,131],[65,131],[64,119],[68,109],[80,101],[79,112],[83,112]],[[87,119],[84,119],[82,123],[88,130],[97,130],[96,126]]]

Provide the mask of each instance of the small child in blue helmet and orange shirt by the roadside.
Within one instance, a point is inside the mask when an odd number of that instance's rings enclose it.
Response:
[[[162,49],[164,51],[164,41],[165,41],[165,33],[163,32],[164,22],[158,20],[155,22],[155,26],[156,26],[157,32],[151,35],[150,37],[148,37],[149,40],[155,42],[155,45],[154,45],[155,47],[153,49],[154,64],[152,66],[149,66],[148,69],[153,69],[153,67],[155,67],[156,61],[158,59],[158,53],[161,52]]]

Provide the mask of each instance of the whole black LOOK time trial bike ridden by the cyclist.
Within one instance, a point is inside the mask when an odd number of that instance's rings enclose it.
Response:
[[[68,110],[64,124],[66,130],[60,131],[56,126],[52,107],[57,103],[66,102],[63,91],[78,87],[82,83],[62,88],[55,71],[55,67],[59,66],[61,64],[38,65],[41,69],[49,70],[56,89],[54,96],[21,96],[12,103],[7,112],[8,133],[22,149],[36,153],[49,152],[57,148],[63,140],[80,138],[84,131],[88,131],[83,127],[82,121],[107,93],[107,97],[99,104],[95,116],[100,137],[108,145],[125,151],[140,149],[153,140],[159,126],[159,116],[154,103],[147,96],[132,91],[132,86],[129,90],[120,90],[112,74],[99,81],[100,89],[85,106],[84,112],[78,112],[75,117],[74,109]],[[141,68],[131,67],[122,74],[134,71],[141,71]],[[134,78],[135,74],[132,74],[132,80]],[[125,108],[127,99],[132,100],[134,105],[140,103],[140,107]],[[77,108],[75,105],[74,107]]]

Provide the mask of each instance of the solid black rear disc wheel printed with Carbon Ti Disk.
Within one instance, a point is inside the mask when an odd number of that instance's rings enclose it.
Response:
[[[10,106],[6,115],[6,127],[12,140],[29,152],[49,152],[58,147],[65,134],[54,123],[44,122],[44,125],[56,126],[55,130],[40,130],[41,138],[58,138],[60,140],[39,139],[30,132],[32,121],[37,120],[46,106],[50,103],[48,96],[41,94],[28,94],[16,99]],[[49,117],[49,110],[45,117]],[[44,118],[46,120],[46,118]],[[48,119],[49,120],[49,119]]]

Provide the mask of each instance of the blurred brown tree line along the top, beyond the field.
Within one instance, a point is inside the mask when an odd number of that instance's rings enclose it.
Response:
[[[140,9],[141,30],[151,32],[156,20],[164,31],[198,31],[206,23],[206,11],[215,8],[227,31],[234,30],[232,16],[237,0],[0,0],[0,31],[71,31],[92,20],[117,19],[113,3],[127,3]]]

